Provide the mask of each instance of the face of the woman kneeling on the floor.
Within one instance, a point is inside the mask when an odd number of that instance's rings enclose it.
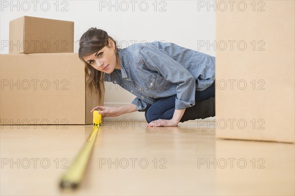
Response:
[[[120,69],[120,60],[116,61],[115,45],[109,39],[109,47],[105,46],[100,51],[89,56],[84,56],[84,60],[88,62],[94,69],[110,74],[114,69]]]

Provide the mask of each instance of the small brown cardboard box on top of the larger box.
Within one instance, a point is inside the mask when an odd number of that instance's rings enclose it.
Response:
[[[73,52],[74,22],[30,16],[9,22],[9,54]]]

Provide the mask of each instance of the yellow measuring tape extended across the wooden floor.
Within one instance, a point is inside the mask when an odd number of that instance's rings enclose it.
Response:
[[[62,176],[59,183],[61,189],[71,188],[76,189],[81,183],[85,169],[89,162],[89,157],[96,139],[99,127],[101,126],[101,114],[98,111],[93,111],[93,129],[88,139],[85,141],[84,146],[75,158],[74,162],[67,169],[66,173]]]

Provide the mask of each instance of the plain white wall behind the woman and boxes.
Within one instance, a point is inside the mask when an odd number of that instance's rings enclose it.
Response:
[[[8,54],[8,47],[3,43],[9,40],[9,21],[26,15],[75,22],[74,41],[78,41],[88,28],[96,27],[106,30],[120,48],[132,42],[162,40],[215,56],[214,47],[208,45],[215,40],[215,11],[209,6],[214,3],[212,0],[1,0],[0,52]],[[206,45],[202,46],[201,42]],[[76,42],[74,52],[78,52],[78,48]],[[122,106],[134,98],[115,84],[107,85],[106,106]],[[144,112],[125,114],[120,118],[125,117],[144,119]]]

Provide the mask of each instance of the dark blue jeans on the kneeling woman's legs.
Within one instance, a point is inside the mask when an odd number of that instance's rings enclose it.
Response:
[[[147,122],[157,119],[172,119],[176,97],[177,95],[172,95],[160,98],[151,105],[145,112]],[[196,90],[195,102],[193,107],[185,110],[180,122],[215,116],[215,82],[203,91]]]

